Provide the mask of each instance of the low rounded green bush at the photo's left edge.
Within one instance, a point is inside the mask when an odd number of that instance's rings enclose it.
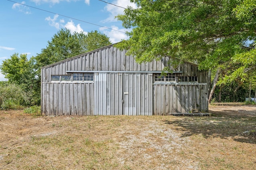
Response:
[[[29,98],[16,84],[0,84],[0,108],[20,109],[29,104]]]

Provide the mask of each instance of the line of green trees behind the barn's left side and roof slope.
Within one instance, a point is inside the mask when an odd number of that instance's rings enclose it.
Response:
[[[3,61],[0,69],[8,79],[8,83],[14,84],[26,93],[29,105],[39,105],[40,68],[42,66],[104,47],[110,43],[109,37],[98,31],[91,31],[86,35],[84,32],[71,34],[69,29],[60,29],[36,57],[28,59],[26,54],[19,56],[15,53],[10,59]]]

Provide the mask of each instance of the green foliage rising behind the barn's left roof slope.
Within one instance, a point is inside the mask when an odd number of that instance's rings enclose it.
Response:
[[[42,53],[36,56],[36,67],[56,63],[70,57],[111,44],[109,37],[98,31],[71,34],[69,29],[60,29]]]

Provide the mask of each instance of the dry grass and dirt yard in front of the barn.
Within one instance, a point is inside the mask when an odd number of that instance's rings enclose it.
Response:
[[[211,116],[39,116],[0,111],[0,169],[256,169],[256,107]]]

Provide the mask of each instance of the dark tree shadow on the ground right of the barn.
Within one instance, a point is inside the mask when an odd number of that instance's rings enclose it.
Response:
[[[211,112],[211,116],[182,116],[182,119],[164,122],[182,131],[181,137],[201,134],[204,138],[231,137],[234,141],[256,144],[256,116],[253,115],[255,111],[252,111],[253,114],[242,115],[233,114],[232,110]]]

